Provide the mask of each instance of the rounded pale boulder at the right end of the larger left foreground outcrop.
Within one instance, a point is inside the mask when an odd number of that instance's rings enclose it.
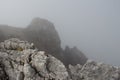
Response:
[[[66,72],[65,66],[56,58],[50,56],[48,59],[48,65],[46,66],[50,72],[50,76],[54,79],[67,79],[68,72]]]

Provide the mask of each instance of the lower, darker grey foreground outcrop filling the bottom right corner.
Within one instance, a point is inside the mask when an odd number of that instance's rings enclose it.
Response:
[[[88,60],[83,66],[69,65],[72,80],[120,80],[120,67]]]

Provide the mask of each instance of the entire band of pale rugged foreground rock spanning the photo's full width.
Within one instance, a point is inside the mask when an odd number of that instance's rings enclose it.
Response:
[[[33,43],[11,38],[0,43],[0,80],[120,80],[120,68],[90,60],[66,68]]]

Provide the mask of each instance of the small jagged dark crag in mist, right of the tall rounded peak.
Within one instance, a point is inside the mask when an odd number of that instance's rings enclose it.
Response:
[[[64,57],[66,65],[69,65],[69,63],[76,65],[76,63],[79,62],[83,65],[87,60],[87,57],[80,50],[78,50],[77,47],[69,48],[66,46],[64,50]]]

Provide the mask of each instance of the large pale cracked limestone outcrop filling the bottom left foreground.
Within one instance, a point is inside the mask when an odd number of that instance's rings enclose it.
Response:
[[[0,43],[0,80],[67,80],[63,63],[33,44],[12,38]],[[4,67],[2,67],[4,65]]]

